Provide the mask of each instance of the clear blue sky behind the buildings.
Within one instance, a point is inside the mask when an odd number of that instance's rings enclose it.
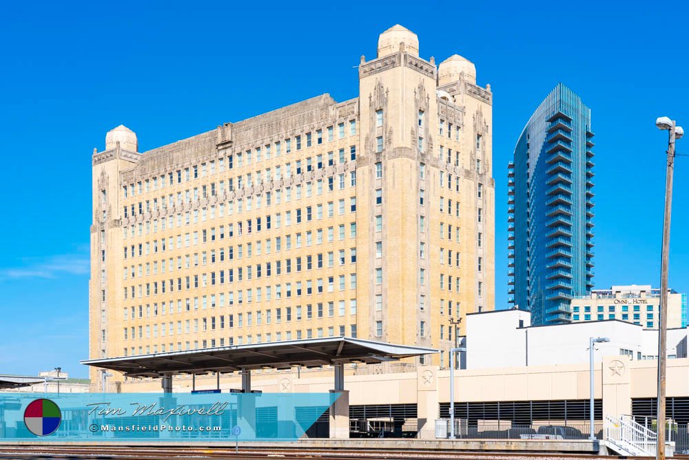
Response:
[[[689,131],[686,3],[19,3],[0,18],[0,372],[87,373],[91,154],[107,130],[123,123],[148,150],[323,92],[355,97],[360,55],[375,57],[395,23],[418,34],[422,57],[462,54],[493,87],[498,308],[506,164],[559,81],[593,110],[596,286],[659,285],[667,134],[654,121]],[[678,147],[689,154],[689,135]],[[683,292],[688,178],[680,157],[670,285]]]

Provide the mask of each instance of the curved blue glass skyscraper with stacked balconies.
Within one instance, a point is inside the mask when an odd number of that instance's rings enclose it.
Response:
[[[558,84],[528,120],[508,166],[509,301],[532,324],[570,321],[593,288],[591,110]]]

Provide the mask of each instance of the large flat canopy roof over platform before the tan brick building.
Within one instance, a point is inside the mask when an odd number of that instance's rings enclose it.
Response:
[[[336,363],[373,364],[437,352],[433,348],[351,337],[327,337],[90,359],[81,363],[122,372],[129,377],[161,377],[245,369],[317,367]]]

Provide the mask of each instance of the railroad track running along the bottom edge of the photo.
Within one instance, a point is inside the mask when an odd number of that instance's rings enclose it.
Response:
[[[83,459],[83,460],[196,460],[196,459],[234,459],[234,460],[313,460],[313,459],[356,459],[356,460],[410,460],[410,459],[451,459],[451,460],[609,460],[609,459],[650,459],[652,457],[620,457],[617,455],[559,454],[532,452],[457,452],[456,450],[384,450],[384,449],[324,449],[307,448],[255,448],[242,447],[235,452],[234,447],[145,447],[145,446],[0,446],[3,459]],[[679,458],[679,457],[676,457]],[[687,457],[684,457],[685,459]]]

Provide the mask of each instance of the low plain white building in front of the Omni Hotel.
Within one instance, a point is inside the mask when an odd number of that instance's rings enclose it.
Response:
[[[604,356],[657,357],[658,331],[626,321],[605,320],[531,326],[525,310],[495,310],[466,315],[466,369],[588,363],[590,337],[595,361]],[[687,328],[668,330],[668,358],[687,357]],[[464,367],[464,366],[462,366]]]

